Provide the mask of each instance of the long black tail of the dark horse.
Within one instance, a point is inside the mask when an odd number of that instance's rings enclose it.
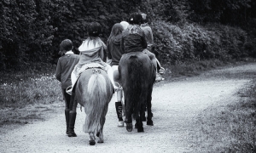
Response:
[[[131,82],[129,83],[128,88],[128,94],[129,99],[131,99],[130,104],[127,105],[127,109],[131,110],[131,108],[134,108],[132,113],[134,114],[134,117],[138,116],[138,113],[140,111],[140,107],[142,105],[142,101],[140,100],[142,91],[142,82],[143,82],[143,63],[138,59],[137,55],[131,55],[130,57],[130,63],[128,64],[128,73],[130,74],[129,79]]]

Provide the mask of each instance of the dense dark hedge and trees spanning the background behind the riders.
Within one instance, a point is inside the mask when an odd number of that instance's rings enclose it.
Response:
[[[232,3],[234,6],[230,6]],[[24,68],[32,62],[55,63],[59,43],[65,38],[73,40],[74,51],[78,53],[79,44],[87,37],[89,22],[101,23],[102,39],[106,42],[113,24],[137,11],[148,14],[162,62],[255,56],[255,40],[251,39],[256,37],[255,30],[247,35],[247,31],[231,26],[189,23],[189,20],[206,24],[210,19],[220,22],[231,19],[228,17],[241,17],[243,8],[247,10],[246,20],[253,23],[250,19],[255,19],[254,9],[246,4],[255,8],[250,0],[222,3],[220,6],[227,7],[231,13],[239,10],[239,14],[229,16],[221,7],[214,8],[216,2],[211,0],[4,0],[0,2],[3,16],[0,19],[0,67],[3,70]],[[215,12],[211,12],[213,10]],[[236,24],[232,20],[224,23],[227,22]]]

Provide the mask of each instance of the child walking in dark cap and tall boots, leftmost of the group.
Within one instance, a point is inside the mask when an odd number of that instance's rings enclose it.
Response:
[[[70,135],[69,128],[74,127],[76,114],[70,111],[71,96],[66,93],[66,89],[68,86],[72,84],[71,73],[75,65],[77,65],[79,62],[79,55],[73,54],[72,49],[73,49],[73,42],[71,40],[65,39],[61,42],[60,52],[61,54],[64,54],[64,55],[62,55],[61,58],[58,59],[58,63],[55,71],[55,77],[58,81],[61,82],[61,91],[65,99],[65,118],[66,118],[66,124],[67,124],[66,133],[68,134],[68,136]],[[72,135],[76,137],[75,133],[73,133]]]

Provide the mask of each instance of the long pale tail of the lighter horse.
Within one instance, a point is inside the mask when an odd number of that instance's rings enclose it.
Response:
[[[102,74],[92,74],[88,82],[87,105],[84,110],[87,113],[84,122],[84,133],[97,133],[102,128],[102,121],[108,111],[107,82]]]

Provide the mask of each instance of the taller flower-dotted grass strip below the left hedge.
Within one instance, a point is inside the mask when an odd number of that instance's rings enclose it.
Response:
[[[26,105],[52,104],[61,99],[61,86],[54,71],[5,73],[0,84],[0,108],[23,108]]]

